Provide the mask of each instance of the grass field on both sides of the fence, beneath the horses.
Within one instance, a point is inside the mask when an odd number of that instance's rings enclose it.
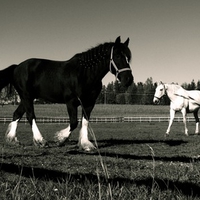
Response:
[[[63,116],[63,105],[36,105],[37,116]],[[4,106],[10,117],[14,107]],[[168,106],[96,105],[92,116],[169,115]],[[48,148],[32,144],[29,125],[19,124],[21,146],[8,146],[0,124],[0,199],[200,199],[200,136],[184,136],[167,122],[91,123],[98,150],[77,148],[78,129],[63,147],[53,142],[64,124],[38,124]],[[94,140],[90,136],[91,141]],[[94,141],[93,141],[94,142]]]

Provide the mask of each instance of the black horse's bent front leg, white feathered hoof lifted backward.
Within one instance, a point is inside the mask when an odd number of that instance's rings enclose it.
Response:
[[[77,106],[75,106],[73,103],[68,103],[67,110],[68,110],[68,114],[69,114],[70,124],[68,125],[67,128],[56,132],[56,134],[54,136],[54,139],[56,142],[58,142],[59,146],[62,146],[65,143],[65,141],[70,137],[71,132],[78,125]]]

